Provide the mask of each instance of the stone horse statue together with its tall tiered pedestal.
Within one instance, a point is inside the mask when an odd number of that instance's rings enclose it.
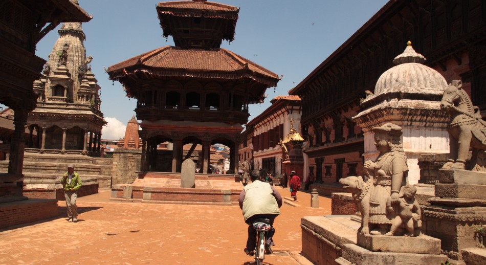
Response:
[[[452,117],[450,157],[439,169],[435,197],[429,200],[431,205],[423,215],[426,233],[442,240],[441,249],[451,260],[480,264],[486,260],[486,251],[477,248],[475,233],[486,224],[486,122],[461,86],[460,80],[451,81],[440,103]],[[473,151],[466,163],[470,147]]]

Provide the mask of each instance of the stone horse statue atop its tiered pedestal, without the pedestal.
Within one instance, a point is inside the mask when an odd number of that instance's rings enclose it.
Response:
[[[452,116],[449,124],[450,157],[442,168],[465,169],[469,147],[472,147],[468,169],[473,169],[478,151],[486,149],[486,121],[481,119],[479,108],[473,106],[460,80],[453,80],[446,87],[440,107]]]

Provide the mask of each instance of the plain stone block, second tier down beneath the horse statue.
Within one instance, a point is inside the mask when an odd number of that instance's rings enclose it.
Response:
[[[450,198],[486,199],[486,185],[477,184],[435,184],[435,196]]]

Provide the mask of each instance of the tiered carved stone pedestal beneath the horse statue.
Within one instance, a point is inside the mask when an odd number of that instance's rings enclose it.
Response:
[[[423,214],[426,234],[441,239],[443,253],[461,263],[476,248],[475,228],[486,224],[486,173],[441,169],[439,181]]]

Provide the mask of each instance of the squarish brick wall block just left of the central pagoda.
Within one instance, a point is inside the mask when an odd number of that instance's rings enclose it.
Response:
[[[133,148],[116,148],[113,152],[112,186],[132,183],[138,177],[142,150]]]

